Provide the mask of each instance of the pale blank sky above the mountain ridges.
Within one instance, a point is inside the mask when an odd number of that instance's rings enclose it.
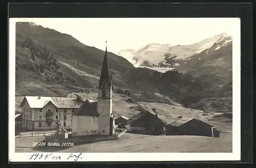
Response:
[[[117,53],[150,43],[184,45],[221,33],[233,36],[239,18],[26,18],[81,43]]]

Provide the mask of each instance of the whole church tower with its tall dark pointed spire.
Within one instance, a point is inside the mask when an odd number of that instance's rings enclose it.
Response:
[[[110,76],[108,53],[105,50],[98,87],[97,112],[99,113],[99,132],[103,135],[113,134],[112,116],[112,79]]]

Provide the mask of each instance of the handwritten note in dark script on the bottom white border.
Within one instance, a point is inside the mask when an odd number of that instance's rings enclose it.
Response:
[[[40,154],[40,153],[34,153],[32,155],[30,155],[29,159],[30,160],[38,160],[38,161],[57,161],[57,160],[62,160],[62,161],[79,161],[82,159],[81,157],[82,153],[79,153],[79,154],[73,154],[71,153],[68,157],[65,157],[65,158],[62,158],[61,157],[61,154],[53,154],[53,153],[50,153],[50,154]]]

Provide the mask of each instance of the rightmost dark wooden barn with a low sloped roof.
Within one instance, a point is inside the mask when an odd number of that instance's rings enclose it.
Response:
[[[166,125],[166,135],[198,135],[219,137],[220,131],[201,120],[188,117],[178,117]]]

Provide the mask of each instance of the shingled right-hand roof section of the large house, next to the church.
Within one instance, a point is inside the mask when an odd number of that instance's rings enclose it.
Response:
[[[82,105],[82,102],[78,101],[76,98],[53,97],[52,99],[58,108],[79,108]]]

